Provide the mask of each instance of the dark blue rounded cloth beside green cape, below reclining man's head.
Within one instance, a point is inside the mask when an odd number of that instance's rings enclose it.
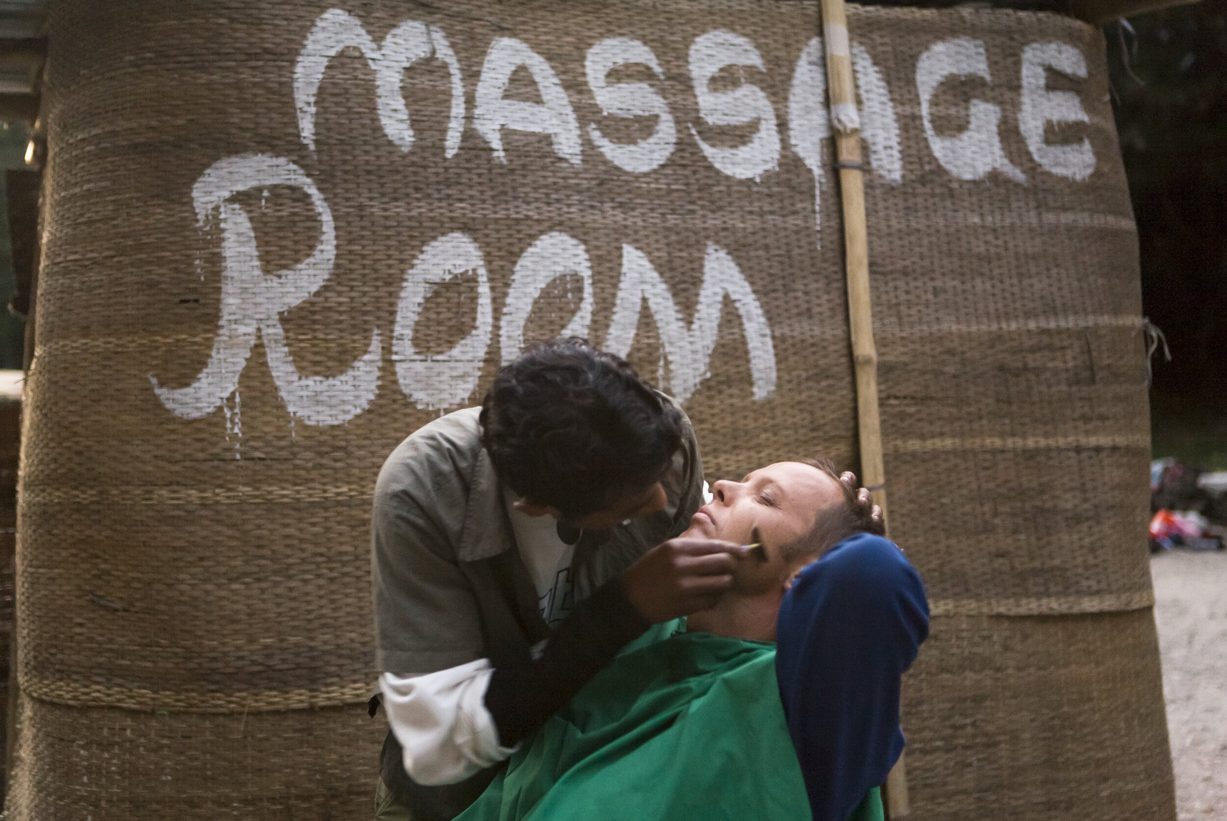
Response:
[[[928,635],[920,575],[880,535],[839,542],[784,596],[775,673],[814,821],[845,821],[898,761],[901,676]]]

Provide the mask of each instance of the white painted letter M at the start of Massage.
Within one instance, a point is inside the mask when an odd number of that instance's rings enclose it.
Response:
[[[391,29],[382,45],[375,45],[362,22],[340,10],[329,9],[317,18],[303,42],[294,64],[294,107],[298,109],[298,135],[315,151],[315,97],[328,62],[346,48],[357,48],[375,72],[375,108],[384,134],[401,151],[413,147],[413,129],[405,105],[405,70],[432,55],[447,65],[452,76],[452,115],[448,120],[447,157],[460,148],[465,102],[460,64],[443,32],[417,21],[405,21]]]

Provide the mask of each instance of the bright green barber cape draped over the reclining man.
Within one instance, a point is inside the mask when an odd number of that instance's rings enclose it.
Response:
[[[458,821],[810,817],[775,646],[670,622],[526,739]],[[882,821],[877,788],[850,821]]]

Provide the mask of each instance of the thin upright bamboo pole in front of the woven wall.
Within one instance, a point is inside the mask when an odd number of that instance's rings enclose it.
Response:
[[[836,168],[843,203],[844,254],[848,271],[848,322],[852,332],[853,366],[856,374],[856,415],[860,434],[861,479],[882,507],[886,506],[886,475],[882,466],[882,424],[877,410],[877,348],[874,344],[874,312],[869,290],[869,239],[865,224],[865,180],[860,151],[860,115],[848,45],[848,17],[844,0],[822,0],[822,29],[827,54],[827,86],[831,93],[831,126],[836,135]],[[815,191],[817,196],[817,191]],[[886,778],[886,816],[898,821],[910,814],[907,770],[903,756]]]

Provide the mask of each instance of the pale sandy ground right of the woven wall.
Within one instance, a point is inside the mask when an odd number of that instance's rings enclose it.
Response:
[[[1151,559],[1180,821],[1227,820],[1227,550]]]

